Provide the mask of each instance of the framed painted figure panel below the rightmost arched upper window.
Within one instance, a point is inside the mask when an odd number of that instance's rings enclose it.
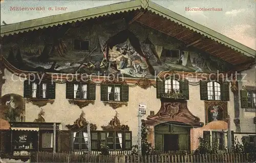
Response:
[[[205,101],[205,123],[227,119],[226,101]]]

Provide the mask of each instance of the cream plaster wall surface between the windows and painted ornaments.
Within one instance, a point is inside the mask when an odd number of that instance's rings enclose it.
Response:
[[[18,94],[23,96],[24,94],[24,79],[13,75],[7,69],[5,69],[6,79],[5,84],[2,87],[2,95],[5,94]],[[199,79],[198,79],[199,80]],[[195,79],[189,79],[189,81],[195,82]],[[138,119],[137,111],[140,103],[146,104],[146,115],[143,115],[142,119],[146,119],[150,115],[150,111],[154,111],[155,114],[159,111],[161,102],[156,98],[156,88],[151,87],[148,89],[142,89],[139,86],[129,88],[129,102],[127,106],[122,106],[114,110],[108,104],[104,104],[100,101],[100,86],[96,86],[96,100],[95,104],[89,104],[86,107],[80,109],[77,105],[69,104],[66,99],[66,84],[56,83],[56,98],[53,104],[48,103],[46,106],[41,107],[45,110],[46,122],[60,122],[62,130],[67,130],[66,125],[73,124],[73,122],[79,117],[81,111],[86,113],[86,119],[90,123],[97,125],[97,130],[102,130],[101,126],[109,124],[110,120],[114,118],[115,111],[119,114],[119,120],[121,124],[128,125],[133,132],[133,145],[137,144],[137,131],[138,131]],[[228,102],[228,114],[233,119],[234,113],[233,100],[230,91],[230,101]],[[189,111],[196,117],[200,118],[200,122],[205,123],[205,109],[204,101],[200,100],[200,85],[189,85],[189,100],[187,102]],[[33,122],[37,119],[37,115],[41,108],[32,103],[26,103],[26,122]],[[234,130],[234,124],[231,121],[231,129]],[[191,135],[191,139],[198,139],[198,135]],[[151,142],[154,142],[154,136],[151,138]]]

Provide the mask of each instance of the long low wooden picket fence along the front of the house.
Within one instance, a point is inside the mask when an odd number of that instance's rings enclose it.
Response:
[[[68,153],[36,152],[36,162],[109,162],[109,163],[135,163],[135,162],[247,162],[248,154],[219,153],[219,154],[169,154],[169,155],[79,155]],[[31,159],[31,161],[33,161]]]

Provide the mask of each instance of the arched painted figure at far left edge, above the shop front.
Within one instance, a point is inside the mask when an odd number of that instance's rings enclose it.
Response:
[[[7,94],[1,98],[1,119],[9,122],[25,121],[25,100],[16,94]]]

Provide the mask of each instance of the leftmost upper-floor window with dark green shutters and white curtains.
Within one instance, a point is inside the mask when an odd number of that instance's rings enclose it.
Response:
[[[55,82],[24,81],[24,97],[36,99],[55,99]]]

